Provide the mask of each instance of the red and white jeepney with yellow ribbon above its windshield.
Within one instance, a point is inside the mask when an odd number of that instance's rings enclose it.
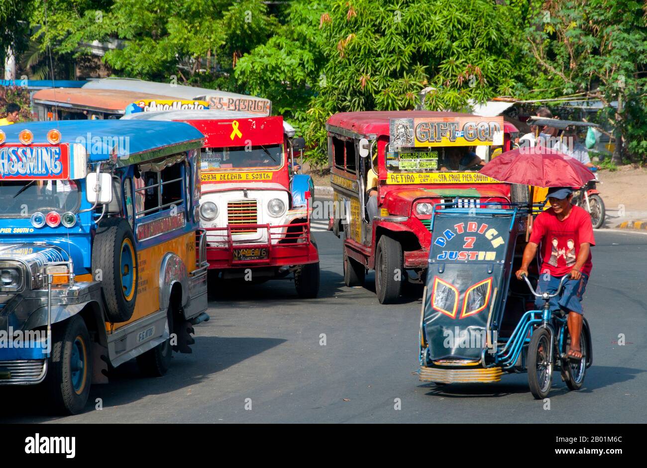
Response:
[[[291,170],[303,138],[293,138],[283,117],[178,110],[124,119],[183,121],[203,133],[200,216],[212,277],[259,283],[293,274],[301,298],[317,296],[314,185],[310,176]]]

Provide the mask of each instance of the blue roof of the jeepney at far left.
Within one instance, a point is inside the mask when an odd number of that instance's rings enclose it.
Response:
[[[3,144],[21,144],[18,139],[20,132],[30,130],[34,136],[32,144],[48,145],[47,132],[52,128],[61,133],[60,143],[68,143],[70,147],[80,143],[92,163],[107,161],[111,156],[114,158],[115,143],[124,143],[129,157],[117,158],[116,165],[120,167],[201,148],[203,139],[199,130],[182,122],[64,120],[3,126]],[[123,156],[121,148],[118,154]]]

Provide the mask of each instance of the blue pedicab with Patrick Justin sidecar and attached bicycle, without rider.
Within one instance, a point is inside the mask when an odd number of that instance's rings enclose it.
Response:
[[[505,372],[530,370],[532,394],[545,398],[559,369],[569,388],[578,389],[592,360],[586,318],[584,358],[573,363],[566,357],[566,316],[549,310],[548,294],[537,310],[531,283],[514,276],[525,247],[528,205],[455,206],[435,205],[430,223],[421,382],[498,382]]]

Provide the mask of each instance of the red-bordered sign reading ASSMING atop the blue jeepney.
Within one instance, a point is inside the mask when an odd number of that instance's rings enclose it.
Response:
[[[69,150],[66,145],[5,145],[0,148],[0,179],[67,179]]]

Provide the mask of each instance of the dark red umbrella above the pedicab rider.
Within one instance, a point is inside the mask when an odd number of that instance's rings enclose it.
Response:
[[[507,151],[479,172],[501,182],[536,187],[582,187],[595,179],[593,172],[577,159],[543,146]]]

